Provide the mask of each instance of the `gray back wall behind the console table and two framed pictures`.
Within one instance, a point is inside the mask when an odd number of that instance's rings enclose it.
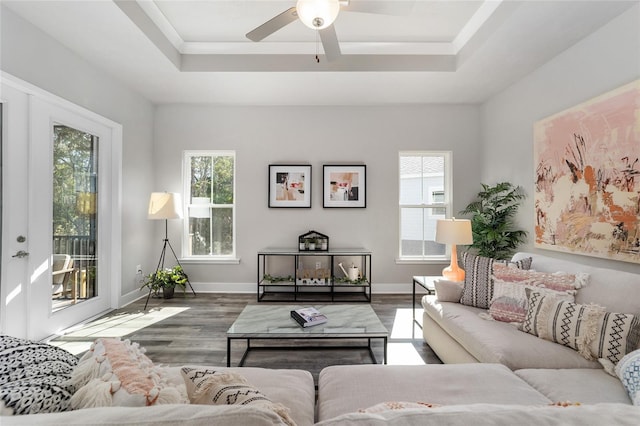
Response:
[[[327,234],[332,247],[366,247],[373,253],[374,291],[408,291],[411,276],[438,274],[444,265],[397,265],[398,152],[451,150],[454,211],[477,192],[480,164],[477,106],[208,107],[159,106],[155,120],[156,190],[182,191],[185,149],[233,149],[237,161],[239,265],[189,265],[198,289],[231,283],[255,289],[256,252],[295,247],[310,229]],[[312,208],[269,209],[269,164],[312,165]],[[322,165],[367,165],[366,209],[323,209]],[[158,224],[156,235],[164,227]],[[170,222],[178,247],[181,223]],[[179,249],[178,249],[179,250]],[[250,284],[250,285],[249,285]]]

